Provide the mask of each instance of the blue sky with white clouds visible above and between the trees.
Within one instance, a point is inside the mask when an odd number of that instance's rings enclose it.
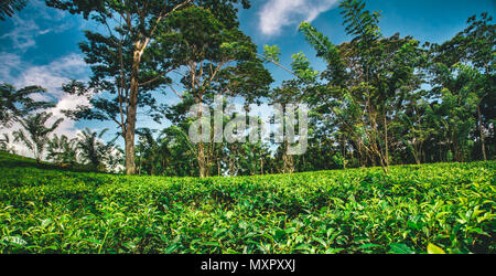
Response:
[[[412,35],[420,42],[443,42],[466,26],[473,14],[489,12],[496,15],[495,0],[368,0],[367,9],[381,11],[380,29],[385,35],[399,32]],[[349,38],[344,32],[336,0],[252,0],[252,8],[239,12],[241,30],[259,46],[277,44],[281,47],[281,61],[291,63],[291,54],[303,52],[315,70],[325,65],[315,60],[296,28],[303,20],[311,21],[333,43]],[[6,21],[0,21],[0,82],[17,87],[41,85],[48,89],[48,98],[58,103],[52,112],[74,107],[82,98],[64,95],[61,84],[71,79],[88,78],[90,72],[83,61],[77,43],[84,40],[83,30],[95,24],[44,6],[42,0],[30,0],[29,6]],[[277,82],[291,76],[276,66],[268,65]],[[161,100],[174,102],[172,94]],[[41,97],[40,97],[41,98]],[[141,118],[141,127],[159,127]],[[74,136],[77,129],[116,129],[111,123],[66,120],[58,132]],[[14,126],[15,127],[15,126]],[[0,132],[11,131],[0,129]],[[106,138],[110,139],[112,135]]]

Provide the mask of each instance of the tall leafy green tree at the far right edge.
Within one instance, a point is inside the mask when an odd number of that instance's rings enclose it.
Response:
[[[492,21],[487,13],[473,15],[467,21],[470,25],[453,39],[430,45],[431,97],[441,99],[439,105],[444,106],[433,112],[433,119],[445,119],[442,127],[449,131],[442,131],[444,136],[438,139],[449,141],[455,160],[470,156],[486,160],[494,156],[496,25]],[[477,139],[481,147],[472,155],[471,139]]]

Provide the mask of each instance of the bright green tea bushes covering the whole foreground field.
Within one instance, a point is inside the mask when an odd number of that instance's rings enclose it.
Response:
[[[0,253],[495,253],[495,169],[180,179],[0,153]]]

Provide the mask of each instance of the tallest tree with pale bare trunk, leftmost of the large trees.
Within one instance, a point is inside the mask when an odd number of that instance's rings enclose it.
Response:
[[[94,66],[89,88],[80,83],[67,86],[73,93],[106,91],[117,95],[115,99],[96,99],[93,110],[79,107],[75,117],[112,119],[120,127],[126,142],[126,172],[136,173],[134,135],[139,107],[154,103],[151,91],[169,82],[166,74],[172,70],[163,56],[157,38],[163,35],[163,21],[172,13],[198,4],[212,9],[225,21],[236,21],[234,7],[238,0],[46,0],[50,7],[80,13],[85,19],[99,22],[106,32],[87,32],[88,44],[82,49],[86,61]],[[244,8],[248,0],[240,0]],[[110,83],[107,77],[114,78]],[[91,114],[93,112],[97,114]],[[153,109],[153,106],[152,106]],[[117,115],[117,116],[116,116]],[[157,114],[155,114],[157,115]],[[155,117],[158,118],[158,117]]]

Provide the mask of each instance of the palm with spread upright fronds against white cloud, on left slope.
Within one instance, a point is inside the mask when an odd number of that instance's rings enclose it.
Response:
[[[25,118],[20,118],[18,121],[24,128],[26,134],[22,129],[13,131],[14,141],[22,141],[31,151],[33,151],[36,161],[40,161],[48,140],[48,135],[53,132],[58,125],[64,120],[60,118],[51,127],[46,127],[46,121],[52,117],[48,113],[39,113],[30,115]]]

